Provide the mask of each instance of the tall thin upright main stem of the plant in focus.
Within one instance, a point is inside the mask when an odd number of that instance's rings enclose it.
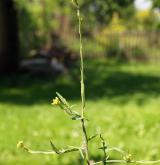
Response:
[[[81,60],[81,66],[80,66],[80,72],[81,72],[81,127],[82,127],[82,133],[83,133],[83,147],[84,147],[84,157],[85,162],[90,165],[89,162],[89,154],[88,154],[88,136],[85,126],[85,120],[84,120],[84,110],[85,110],[85,85],[84,85],[84,64],[83,64],[83,44],[82,44],[82,33],[81,33],[81,23],[82,18],[80,15],[80,9],[77,7],[77,17],[78,17],[78,25],[79,25],[79,42],[80,42],[80,60]]]

